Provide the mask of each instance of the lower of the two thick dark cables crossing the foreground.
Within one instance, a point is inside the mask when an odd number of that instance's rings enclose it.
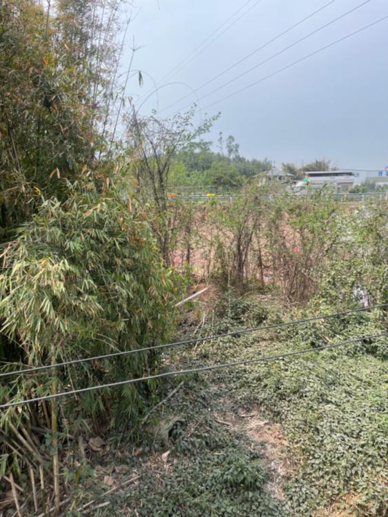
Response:
[[[39,402],[39,401],[48,401],[51,398],[58,398],[58,397],[67,396],[67,395],[75,395],[75,394],[79,394],[79,393],[91,392],[95,389],[103,389],[103,388],[108,388],[108,387],[116,387],[116,386],[123,386],[123,385],[127,385],[127,384],[139,383],[139,382],[143,382],[143,381],[151,381],[156,378],[170,377],[170,376],[174,376],[174,375],[195,374],[198,372],[206,372],[206,371],[210,371],[210,370],[214,370],[214,369],[250,365],[250,364],[254,364],[254,363],[266,363],[269,361],[278,361],[279,359],[283,359],[286,357],[298,356],[298,355],[302,355],[302,354],[309,354],[310,352],[318,352],[318,350],[330,350],[330,349],[334,349],[334,348],[338,348],[338,347],[343,347],[345,345],[350,345],[351,343],[357,343],[358,341],[363,341],[364,339],[374,339],[374,338],[380,338],[382,336],[388,336],[387,332],[384,334],[372,334],[369,336],[360,336],[358,338],[350,339],[349,341],[343,341],[343,343],[334,343],[333,345],[327,345],[327,346],[322,345],[320,347],[297,350],[296,352],[285,352],[283,354],[264,356],[264,357],[260,357],[260,358],[256,358],[256,359],[245,359],[244,361],[234,361],[232,363],[223,363],[223,364],[219,364],[219,365],[210,365],[210,366],[203,366],[203,367],[198,367],[198,368],[175,370],[173,372],[164,372],[163,374],[156,374],[156,375],[149,375],[146,377],[127,379],[125,381],[118,381],[116,383],[88,386],[88,387],[80,388],[80,389],[72,389],[68,392],[59,392],[56,394],[45,395],[45,396],[41,396],[41,397],[26,398],[24,401],[15,401],[15,402],[7,403],[7,404],[2,404],[2,405],[0,405],[0,409],[7,409],[8,407],[14,407],[14,406],[19,406],[19,405],[23,405],[23,404],[30,404],[30,403]]]

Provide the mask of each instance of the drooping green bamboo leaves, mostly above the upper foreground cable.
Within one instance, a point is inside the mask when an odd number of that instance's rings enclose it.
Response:
[[[91,183],[70,188],[68,201],[44,201],[3,250],[1,332],[10,340],[5,358],[44,364],[54,347],[55,360],[64,361],[85,350],[141,347],[168,330],[172,280],[136,201],[128,210],[114,191],[99,197]],[[141,375],[155,359],[144,353],[119,361],[110,376],[122,376],[123,367]],[[106,367],[82,369],[73,381],[98,381]]]

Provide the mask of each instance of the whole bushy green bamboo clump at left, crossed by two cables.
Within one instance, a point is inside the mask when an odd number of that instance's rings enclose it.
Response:
[[[139,348],[163,341],[171,328],[172,271],[163,265],[136,201],[126,205],[114,190],[100,196],[93,183],[68,188],[68,201],[43,201],[32,221],[3,246],[0,356],[8,361],[3,370],[11,361],[15,369],[19,363],[45,365]],[[154,373],[158,357],[154,351],[142,352],[12,376],[1,388],[1,403]],[[134,429],[152,387],[137,383],[61,398],[58,430],[67,427],[76,434],[80,426],[101,428],[129,420]],[[25,448],[22,435],[31,434],[32,426],[51,429],[57,440],[53,417],[54,401],[51,409],[37,403],[23,412],[3,412],[1,454],[15,476],[29,463],[44,463],[47,451],[41,436],[31,440],[21,457],[11,443],[16,440],[18,448]]]

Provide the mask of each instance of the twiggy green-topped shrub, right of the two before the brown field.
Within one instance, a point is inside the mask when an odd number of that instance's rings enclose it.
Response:
[[[270,203],[266,225],[273,282],[289,301],[307,301],[336,256],[342,209],[325,190],[309,199],[285,193]]]

